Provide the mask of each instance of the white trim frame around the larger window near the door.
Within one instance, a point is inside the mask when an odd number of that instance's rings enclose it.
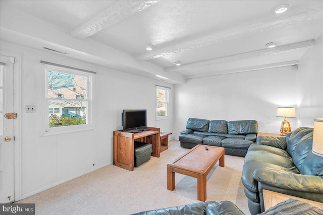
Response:
[[[86,73],[85,70],[82,71],[82,69],[77,70],[77,69],[70,69],[66,68],[64,66],[56,66],[56,65],[50,65],[46,63],[41,63],[42,65],[42,70],[44,71],[44,96],[43,96],[43,116],[42,116],[42,128],[43,132],[41,136],[49,136],[49,135],[57,135],[57,134],[64,134],[64,133],[71,133],[71,132],[79,132],[79,131],[85,131],[85,130],[93,130],[95,128],[94,126],[94,114],[95,113],[95,95],[96,95],[96,80],[95,80],[95,73]],[[70,126],[64,126],[64,127],[52,127],[49,128],[48,125],[48,92],[46,91],[48,89],[48,78],[47,78],[47,71],[48,70],[57,70],[57,71],[62,71],[63,73],[69,73],[69,74],[74,74],[74,75],[81,75],[81,76],[87,76],[88,77],[88,83],[87,83],[87,95],[88,99],[82,99],[82,101],[88,101],[88,107],[86,108],[86,115],[87,115],[87,124],[83,125],[70,125]],[[53,99],[53,98],[51,98]],[[64,99],[63,100],[67,100]]]

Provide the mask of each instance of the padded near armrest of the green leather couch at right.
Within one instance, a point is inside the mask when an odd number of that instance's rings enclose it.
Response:
[[[300,192],[322,193],[323,178],[262,167],[255,169],[253,178],[263,184]]]

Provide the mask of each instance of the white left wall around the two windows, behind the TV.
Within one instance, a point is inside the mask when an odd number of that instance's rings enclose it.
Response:
[[[147,109],[147,125],[173,130],[173,118],[155,120],[155,85],[174,87],[121,71],[104,68],[61,54],[33,50],[1,41],[1,49],[21,54],[21,196],[112,164],[113,131],[122,129],[123,109]],[[96,71],[95,129],[68,134],[41,136],[44,102],[44,71],[40,60]],[[25,105],[36,105],[35,113],[25,113]],[[173,115],[173,107],[170,107]],[[95,164],[95,166],[93,166]],[[109,177],[109,176],[107,176]]]

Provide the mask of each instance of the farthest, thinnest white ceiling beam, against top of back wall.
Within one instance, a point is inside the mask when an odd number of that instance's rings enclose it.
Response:
[[[278,68],[278,67],[291,66],[291,65],[297,65],[297,64],[298,64],[298,60],[291,60],[291,61],[285,61],[285,62],[249,66],[249,67],[244,67],[244,68],[235,68],[235,69],[229,69],[229,70],[214,71],[214,73],[209,73],[209,74],[194,74],[191,76],[184,76],[184,78],[185,79],[193,79],[193,78],[202,78],[202,77],[209,77],[209,76],[219,76],[219,75],[227,75],[227,74],[233,74],[233,73],[243,73],[245,71],[254,71],[254,70],[268,69],[268,68]]]

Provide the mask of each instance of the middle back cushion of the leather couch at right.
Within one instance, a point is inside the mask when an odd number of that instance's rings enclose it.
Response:
[[[293,162],[298,170],[301,170],[302,164],[308,153],[312,150],[313,132],[303,136],[295,147]]]

